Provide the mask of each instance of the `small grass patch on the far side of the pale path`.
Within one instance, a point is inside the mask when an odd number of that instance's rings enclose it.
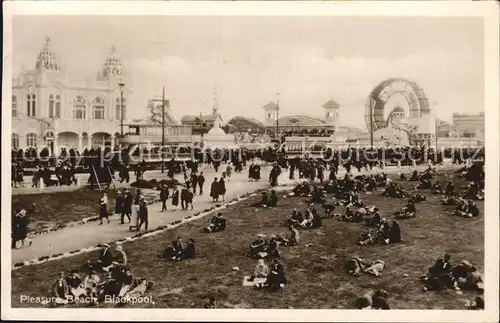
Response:
[[[116,191],[107,190],[108,208],[114,209]],[[99,200],[104,191],[80,189],[71,192],[12,196],[12,212],[29,209],[35,203],[36,212],[29,212],[29,231],[41,232],[63,226],[89,216],[99,215]]]

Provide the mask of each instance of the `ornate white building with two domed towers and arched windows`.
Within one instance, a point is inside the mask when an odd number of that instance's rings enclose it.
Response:
[[[95,78],[73,80],[49,37],[34,67],[12,80],[12,148],[46,146],[58,154],[61,147],[115,144],[134,91],[114,46],[100,68],[89,66],[98,69]]]

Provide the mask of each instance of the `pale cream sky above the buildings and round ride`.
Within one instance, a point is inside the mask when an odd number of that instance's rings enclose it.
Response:
[[[387,78],[417,82],[440,119],[484,111],[481,18],[15,16],[14,75],[35,67],[46,36],[75,79],[95,77],[115,45],[133,118],[163,86],[176,118],[210,113],[216,87],[226,121],[263,120],[279,93],[281,116],[323,116],[333,99],[339,125],[365,128],[367,97]]]

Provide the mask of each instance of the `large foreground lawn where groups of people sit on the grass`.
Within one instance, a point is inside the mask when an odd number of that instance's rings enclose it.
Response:
[[[444,175],[439,178],[441,182],[446,180]],[[464,184],[458,179],[455,182],[457,188]],[[481,215],[477,219],[451,217],[445,212],[454,207],[442,206],[438,197],[426,190],[422,192],[428,200],[417,205],[417,218],[399,221],[404,240],[400,244],[358,246],[358,236],[366,227],[335,219],[325,220],[322,228],[301,231],[299,246],[281,248],[288,285],[277,293],[241,286],[243,275],[250,275],[256,265],[256,260],[244,258],[243,253],[258,233],[285,232],[282,225],[291,210],[307,207],[303,198],[281,198],[277,208],[256,212],[249,207],[256,197],[223,212],[228,219],[225,232],[200,233],[210,220],[205,217],[175,230],[125,243],[124,249],[133,273],[155,284],[151,290],[155,304],[141,306],[199,308],[203,299],[212,294],[218,306],[226,308],[354,308],[356,297],[367,289],[383,288],[389,293],[391,308],[463,309],[464,301],[474,298],[474,293],[425,293],[419,276],[444,252],[450,253],[452,264],[467,259],[484,272],[483,202],[478,202]],[[378,195],[365,195],[364,199],[379,207],[382,217],[388,220],[406,202]],[[336,210],[339,211],[343,212],[343,208]],[[195,239],[197,258],[179,263],[159,261],[159,252],[177,236],[184,241]],[[385,261],[382,276],[348,276],[343,266],[354,255]],[[12,305],[28,306],[20,303],[21,294],[47,296],[59,271],[80,266],[91,257],[96,257],[96,253],[12,271]],[[233,271],[234,266],[240,271]]]

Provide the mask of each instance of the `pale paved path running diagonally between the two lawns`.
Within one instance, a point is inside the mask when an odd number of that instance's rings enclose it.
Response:
[[[419,166],[417,169],[423,170],[426,166]],[[262,167],[262,180],[260,182],[249,182],[247,176],[247,169],[241,174],[234,174],[231,177],[231,182],[226,183],[227,194],[226,200],[231,200],[244,193],[257,190],[259,188],[269,187],[267,181],[270,167]],[[397,173],[397,172],[410,172],[413,167],[398,169],[396,167],[389,167],[385,169],[386,173]],[[380,173],[382,170],[380,168],[374,168],[368,173]],[[194,200],[194,210],[193,211],[183,211],[183,210],[169,210],[167,212],[160,212],[161,203],[151,204],[149,206],[149,229],[155,229],[162,225],[167,225],[172,221],[180,220],[186,215],[192,215],[195,212],[207,209],[214,204],[209,198],[210,183],[213,178],[217,175],[220,176],[221,170],[216,174],[214,170],[205,168],[203,170],[206,178],[205,190],[203,196],[196,196]],[[343,175],[345,171],[342,169],[339,171],[339,175]],[[366,173],[366,172],[365,172]],[[148,174],[148,173],[146,173]],[[357,171],[354,170],[354,175],[357,175]],[[149,172],[149,176],[153,176],[157,179],[161,179],[166,174]],[[325,172],[325,177],[327,178],[328,172]],[[298,177],[296,175],[296,177]],[[288,172],[283,172],[279,180],[280,184],[288,183],[293,184],[288,180]],[[170,200],[169,200],[170,202]],[[169,205],[171,206],[171,204]],[[17,250],[12,250],[12,264],[20,261],[32,260],[41,256],[53,255],[64,253],[67,251],[87,248],[90,246],[97,245],[99,243],[109,243],[118,239],[123,239],[129,236],[133,236],[136,232],[129,231],[129,225],[120,225],[119,216],[111,216],[110,224],[99,225],[98,222],[90,222],[82,225],[76,225],[73,227],[67,227],[59,231],[48,232],[42,235],[38,235],[33,238],[33,245],[30,247],[24,247]]]

